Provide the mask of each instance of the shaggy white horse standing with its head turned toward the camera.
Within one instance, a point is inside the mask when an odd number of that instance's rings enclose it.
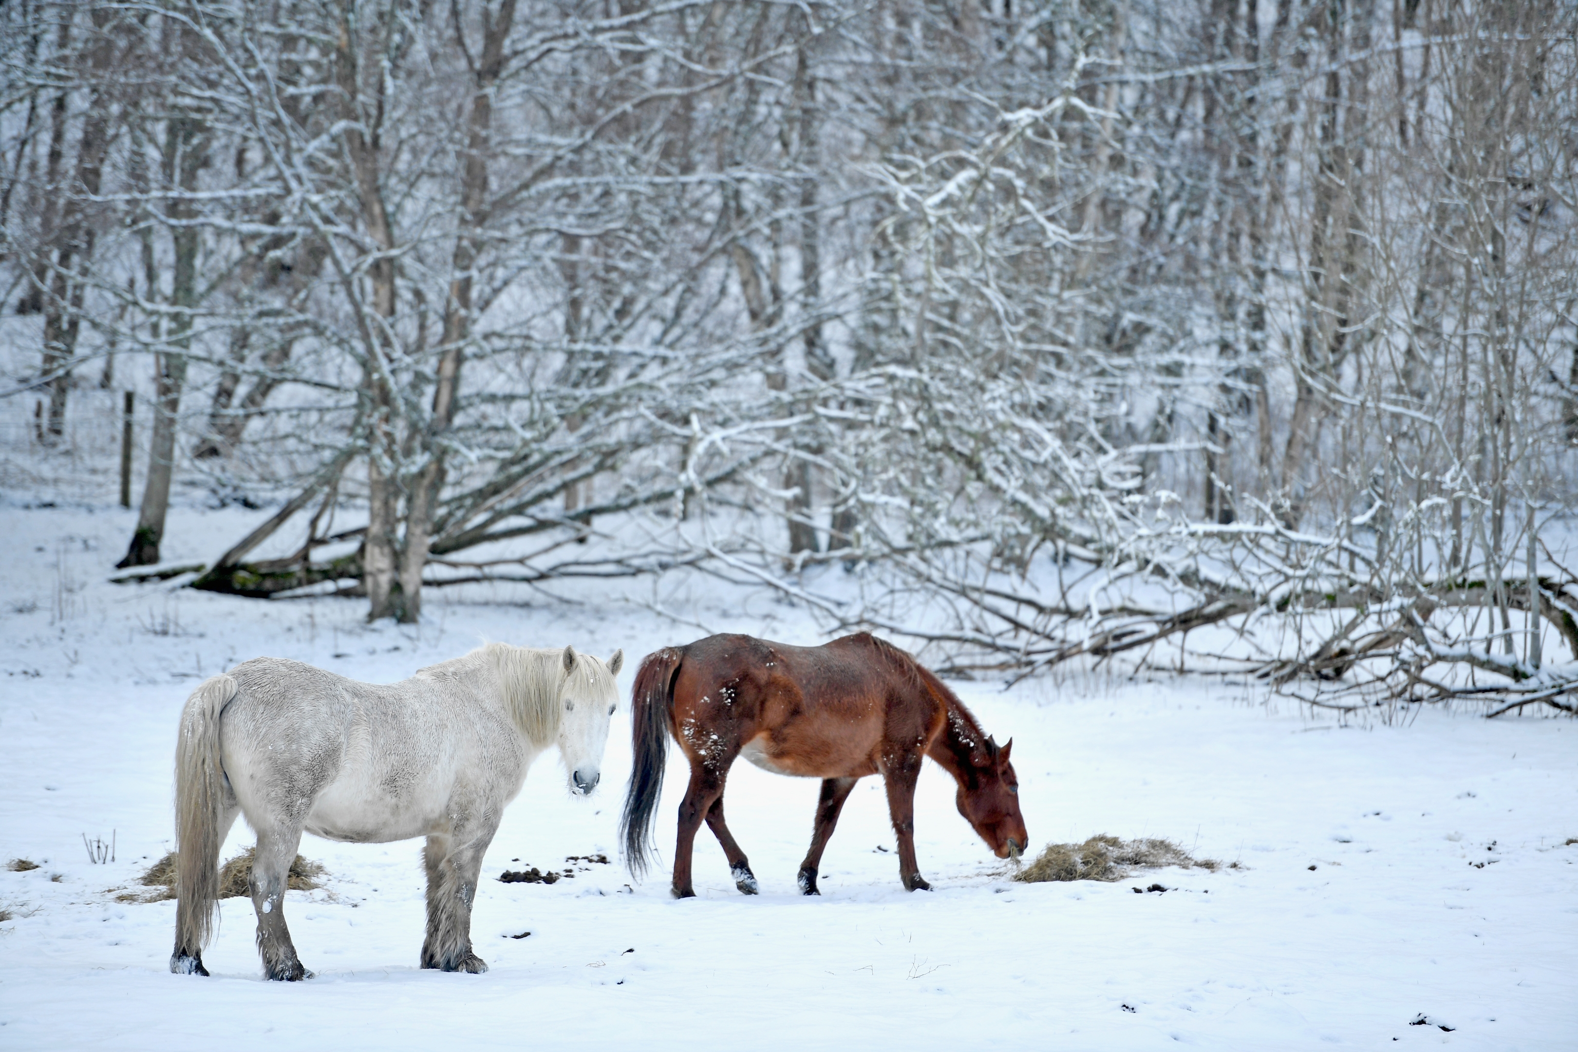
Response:
[[[525,771],[557,744],[571,792],[598,782],[614,677],[625,653],[488,644],[377,686],[282,658],[256,658],[186,699],[175,744],[178,841],[170,972],[208,975],[219,845],[237,814],[257,833],[249,890],[270,979],[305,979],[284,918],[303,830],[383,844],[426,836],[421,967],[486,972],[472,951],[483,853]]]

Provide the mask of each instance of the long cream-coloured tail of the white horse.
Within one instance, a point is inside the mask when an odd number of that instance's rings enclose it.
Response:
[[[181,710],[175,741],[175,956],[170,970],[200,968],[199,953],[213,934],[219,907],[219,825],[224,770],[219,713],[240,689],[227,675],[204,680]],[[196,968],[183,961],[196,962]]]

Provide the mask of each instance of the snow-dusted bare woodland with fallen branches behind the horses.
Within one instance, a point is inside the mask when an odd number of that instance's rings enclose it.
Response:
[[[1572,711],[1575,22],[13,0],[6,487],[131,390],[142,579],[683,569],[958,675]],[[172,486],[270,514],[161,565]]]

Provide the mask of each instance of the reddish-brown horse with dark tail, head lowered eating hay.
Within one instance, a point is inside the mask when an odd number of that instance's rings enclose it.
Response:
[[[822,849],[866,774],[882,774],[887,784],[899,880],[907,891],[931,886],[915,864],[915,779],[925,755],[959,784],[959,814],[997,858],[1018,855],[1029,842],[1008,762],[1013,741],[997,748],[942,680],[866,632],[824,647],[709,636],[660,650],[636,673],[631,724],[636,759],[620,834],[633,872],[645,871],[652,852],[671,733],[691,765],[674,849],[680,899],[696,894],[691,849],[702,819],[729,858],[735,886],[756,894],[745,852],[723,822],[723,787],[737,755],[776,774],[822,779],[811,850],[800,863],[805,894],[819,894]]]

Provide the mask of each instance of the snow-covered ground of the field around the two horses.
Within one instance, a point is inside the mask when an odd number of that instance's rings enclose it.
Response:
[[[166,558],[211,558],[259,514],[175,508]],[[1206,680],[955,686],[1015,740],[1037,849],[1163,836],[1240,869],[1015,883],[928,765],[917,847],[936,891],[899,888],[869,779],[806,899],[794,877],[817,785],[742,763],[729,822],[764,893],[734,891],[704,830],[699,897],[675,902],[663,874],[634,883],[617,864],[622,710],[603,789],[570,798],[544,757],[508,809],[472,932],[486,975],[417,968],[418,841],[311,836],[301,852],[330,879],[289,893],[287,920],[317,978],[260,979],[245,899],[222,905],[213,978],[169,975],[174,902],[115,899],[172,847],[175,719],[202,677],[279,655],[396,680],[484,637],[639,658],[702,629],[595,590],[432,593],[401,629],[365,626],[357,601],[106,584],[131,525],[0,494],[0,861],[39,864],[0,871],[0,1049],[1578,1047],[1578,724],[1427,711],[1343,727]],[[664,588],[641,598],[822,642],[761,593]],[[674,752],[666,863],[683,778]],[[82,836],[112,831],[115,861],[90,864]],[[248,842],[238,825],[224,856]],[[552,886],[494,880],[598,852],[614,864]],[[1152,883],[1168,891],[1135,894]]]

